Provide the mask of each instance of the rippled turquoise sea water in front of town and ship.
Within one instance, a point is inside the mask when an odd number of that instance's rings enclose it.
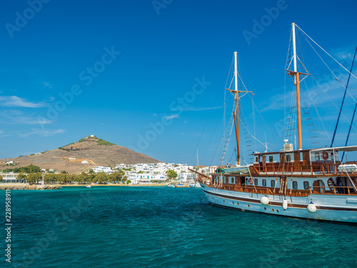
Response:
[[[0,267],[357,267],[356,226],[212,207],[202,197],[169,187],[12,191],[11,264],[1,254]],[[1,199],[4,212],[5,191]]]

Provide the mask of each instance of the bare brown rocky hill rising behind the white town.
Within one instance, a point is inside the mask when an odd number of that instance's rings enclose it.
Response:
[[[86,172],[96,167],[112,167],[116,164],[158,163],[159,161],[145,154],[139,154],[131,149],[111,142],[106,142],[95,136],[85,137],[78,142],[68,144],[59,149],[46,151],[41,154],[31,154],[24,157],[0,159],[0,168],[8,166],[5,162],[14,161],[15,167],[25,167],[34,164],[41,169],[54,169],[57,172],[65,170],[69,173]],[[9,167],[14,168],[14,167]]]

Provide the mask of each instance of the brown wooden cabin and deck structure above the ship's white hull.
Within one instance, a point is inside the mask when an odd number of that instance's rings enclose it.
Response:
[[[348,147],[339,148],[348,152]],[[217,169],[206,177],[206,184],[217,189],[282,196],[356,195],[357,162],[341,165],[339,148],[257,152],[248,174],[229,174]],[[350,149],[354,151],[357,147]],[[205,178],[201,177],[203,181]]]

